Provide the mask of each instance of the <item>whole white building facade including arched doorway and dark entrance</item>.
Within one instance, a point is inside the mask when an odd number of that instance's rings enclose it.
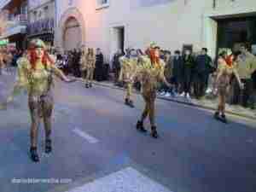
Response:
[[[101,48],[106,62],[121,48],[199,51],[256,44],[255,0],[56,0],[55,45]],[[236,29],[236,28],[239,28]]]

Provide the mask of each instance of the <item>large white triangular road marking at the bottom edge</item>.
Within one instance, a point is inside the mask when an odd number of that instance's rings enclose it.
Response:
[[[127,167],[66,192],[172,192],[153,179]]]

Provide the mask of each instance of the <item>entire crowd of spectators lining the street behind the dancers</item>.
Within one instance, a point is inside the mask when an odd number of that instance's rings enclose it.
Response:
[[[244,46],[245,47],[245,46]],[[233,55],[238,55],[241,58],[239,61],[240,67],[237,67],[238,73],[241,73],[241,80],[245,84],[245,90],[239,88],[239,84],[236,78],[231,78],[230,81],[230,94],[228,101],[230,104],[241,104],[246,108],[255,108],[256,97],[256,72],[244,75],[242,66],[246,65],[249,61],[247,57],[253,58],[255,62],[255,56],[249,53],[247,48],[241,52],[237,51],[227,55],[225,60],[228,65],[233,65]],[[82,49],[73,49],[65,51],[64,54],[60,54],[55,49],[50,49],[49,52],[56,57],[56,65],[62,69],[67,75],[73,75],[75,77],[81,77],[80,59],[82,55]],[[7,55],[1,61],[2,68],[5,66],[15,67],[16,61],[23,54],[21,50],[11,50],[1,48],[0,52]],[[172,89],[166,87],[164,84],[159,86],[160,96],[181,96],[187,99],[195,97],[196,99],[205,98],[206,96],[214,97],[213,84],[216,79],[218,68],[218,57],[213,61],[207,54],[207,48],[201,49],[201,53],[193,53],[190,49],[184,49],[183,51],[175,50],[172,55],[169,50],[161,50],[160,58],[166,63],[166,79],[173,85]],[[109,79],[109,73],[113,73],[113,83],[119,86],[123,86],[122,82],[119,82],[119,73],[121,70],[121,64],[119,58],[125,55],[125,52],[119,49],[114,55],[109,64],[104,63],[104,56],[101,49],[96,49],[96,68],[94,72],[94,79],[96,81],[103,81]],[[249,56],[248,56],[249,55]],[[253,65],[253,64],[252,64]],[[256,64],[255,64],[256,65]],[[246,78],[245,78],[246,77]],[[134,84],[137,90],[140,90],[140,83]]]

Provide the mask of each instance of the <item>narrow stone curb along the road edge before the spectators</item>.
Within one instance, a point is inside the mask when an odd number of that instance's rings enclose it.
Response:
[[[80,82],[82,82],[81,79],[78,79],[78,80]],[[96,81],[93,81],[92,83],[96,84],[96,85],[99,85],[99,86],[115,89],[115,90],[125,90],[124,88],[121,88],[121,87],[113,86],[113,85],[110,85],[110,84],[99,83],[99,82],[96,82]],[[138,92],[137,90],[134,93],[137,94],[137,95],[140,95],[140,92]],[[177,100],[172,99],[172,98],[165,98],[165,97],[161,97],[161,96],[157,96],[157,98],[160,99],[160,100],[167,101],[167,102],[177,102],[177,103],[192,106],[192,107],[195,107],[195,108],[203,108],[203,109],[207,109],[207,110],[211,110],[211,111],[216,110],[216,108],[212,108],[212,107],[208,107],[208,106],[204,106],[204,105],[200,105],[200,104],[195,104],[195,103],[191,103],[191,102],[177,101]],[[235,116],[238,116],[238,117],[241,117],[241,118],[253,119],[253,120],[256,119],[255,117],[253,117],[251,115],[236,113],[236,112],[232,112],[232,111],[226,111],[226,113],[229,113],[231,115],[235,115]]]

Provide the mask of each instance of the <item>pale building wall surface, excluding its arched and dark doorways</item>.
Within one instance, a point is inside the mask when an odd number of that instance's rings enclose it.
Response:
[[[216,0],[109,0],[109,7],[98,9],[97,0],[57,0],[58,26],[63,24],[63,15],[75,8],[84,22],[83,44],[103,50],[106,61],[116,51],[114,31],[116,26],[125,26],[125,47],[145,49],[151,41],[163,49],[182,49],[183,44],[193,44],[194,50],[209,49],[215,56],[217,42],[216,17],[256,12],[254,0],[231,2]],[[59,27],[59,28],[60,28]],[[60,35],[59,35],[60,36]],[[61,44],[58,38],[56,44]]]

